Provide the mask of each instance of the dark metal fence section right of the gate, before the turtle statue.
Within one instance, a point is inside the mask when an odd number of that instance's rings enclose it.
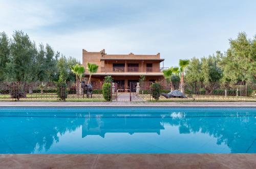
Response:
[[[130,86],[136,88],[137,83]],[[256,101],[256,83],[249,82],[143,82],[139,86],[139,91],[131,90],[131,101]]]

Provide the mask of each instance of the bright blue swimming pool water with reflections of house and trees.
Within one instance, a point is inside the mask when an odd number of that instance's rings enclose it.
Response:
[[[256,153],[252,107],[0,107],[0,153]]]

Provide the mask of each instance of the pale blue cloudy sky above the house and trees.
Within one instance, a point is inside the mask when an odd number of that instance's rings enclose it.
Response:
[[[239,32],[256,34],[256,1],[0,0],[0,32],[30,39],[82,61],[82,49],[156,54],[164,66],[225,52]]]

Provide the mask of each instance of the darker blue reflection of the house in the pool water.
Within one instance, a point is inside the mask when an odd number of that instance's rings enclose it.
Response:
[[[152,118],[87,118],[82,126],[82,137],[106,133],[157,133],[164,129],[160,121]]]

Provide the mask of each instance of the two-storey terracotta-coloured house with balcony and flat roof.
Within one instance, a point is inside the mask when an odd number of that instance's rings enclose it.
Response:
[[[140,75],[145,75],[145,81],[162,81],[164,59],[160,53],[155,55],[139,54],[106,54],[105,50],[89,52],[82,50],[82,65],[86,68],[87,62],[99,66],[97,73],[92,75],[92,81],[103,81],[105,76],[111,75],[118,83],[119,91],[129,91],[130,82],[138,82]],[[86,78],[89,73],[86,70]]]

